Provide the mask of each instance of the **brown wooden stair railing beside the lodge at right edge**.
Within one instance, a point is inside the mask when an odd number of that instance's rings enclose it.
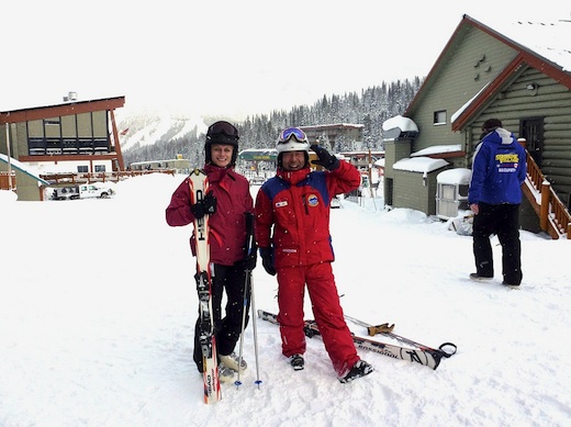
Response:
[[[527,153],[527,180],[524,193],[539,215],[539,226],[551,238],[571,238],[571,215],[534,158]]]

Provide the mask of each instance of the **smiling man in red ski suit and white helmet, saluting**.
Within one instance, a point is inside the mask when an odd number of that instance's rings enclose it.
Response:
[[[326,149],[312,145],[327,171],[311,171],[310,143],[298,127],[278,139],[278,171],[256,196],[256,240],[264,268],[278,274],[278,322],[282,353],[294,370],[304,367],[303,296],[305,284],[325,349],[339,381],[372,372],[360,360],[344,318],[332,271],[329,204],[334,195],[359,187],[360,173]]]

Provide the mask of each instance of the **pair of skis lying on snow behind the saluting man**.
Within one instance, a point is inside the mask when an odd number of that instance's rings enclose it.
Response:
[[[278,316],[273,313],[258,310],[258,317],[264,321],[273,323],[276,325],[279,324]],[[394,344],[380,342],[373,339],[362,338],[351,334],[352,341],[355,342],[356,347],[374,351],[393,359],[402,359],[410,362],[424,364],[432,369],[436,369],[440,364],[440,360],[443,358],[449,358],[450,356],[455,355],[457,350],[456,345],[452,342],[445,342],[438,348],[432,348],[423,344],[413,341],[412,339],[393,334],[392,329],[394,325],[389,326],[389,324],[383,324],[373,326],[368,325],[365,322],[358,321],[350,316],[345,317],[350,322],[367,327],[369,336],[381,334],[389,338],[395,339],[396,341],[403,345],[406,345],[406,347],[404,347]],[[305,321],[303,330],[305,335],[310,338],[314,336],[321,336],[320,328],[317,327],[315,321]]]

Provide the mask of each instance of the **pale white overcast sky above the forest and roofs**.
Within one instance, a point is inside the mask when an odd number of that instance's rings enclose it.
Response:
[[[10,1],[0,111],[60,103],[75,91],[79,100],[125,95],[125,111],[269,113],[426,76],[464,13],[492,27],[547,12],[570,18],[559,0],[510,3]]]

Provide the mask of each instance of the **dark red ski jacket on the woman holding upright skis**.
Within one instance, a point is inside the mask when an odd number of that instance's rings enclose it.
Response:
[[[216,212],[209,218],[210,260],[223,266],[232,266],[245,258],[246,212],[254,212],[254,201],[249,183],[234,169],[221,169],[206,165],[209,191],[216,198]],[[166,211],[170,226],[183,226],[194,221],[190,211],[189,179],[175,190]],[[190,237],[192,255],[195,255],[194,234]]]

